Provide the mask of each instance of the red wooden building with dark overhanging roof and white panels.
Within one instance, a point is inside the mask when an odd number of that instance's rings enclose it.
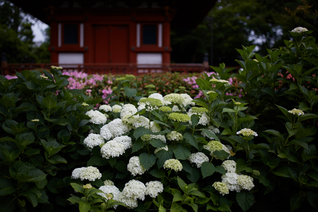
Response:
[[[170,64],[171,28],[194,28],[216,0],[12,0],[51,27],[51,63]]]

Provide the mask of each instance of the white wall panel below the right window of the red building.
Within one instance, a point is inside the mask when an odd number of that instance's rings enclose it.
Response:
[[[137,53],[138,67],[149,67],[151,69],[138,70],[138,73],[148,72],[162,72],[161,69],[155,69],[161,67],[163,63],[162,53]]]

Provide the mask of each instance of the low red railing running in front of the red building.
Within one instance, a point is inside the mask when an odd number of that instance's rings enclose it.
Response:
[[[6,64],[0,67],[2,75],[13,75],[23,70],[48,70],[51,66],[61,66],[62,71],[78,71],[87,74],[133,74],[181,72],[194,73],[211,70],[202,64]]]

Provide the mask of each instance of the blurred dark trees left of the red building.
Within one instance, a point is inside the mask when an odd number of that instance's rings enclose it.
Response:
[[[32,25],[20,8],[9,1],[0,0],[0,53],[6,53],[8,63],[49,62],[49,53],[45,48],[49,39],[36,46]]]

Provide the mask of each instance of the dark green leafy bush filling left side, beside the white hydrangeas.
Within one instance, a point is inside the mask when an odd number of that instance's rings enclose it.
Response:
[[[83,114],[90,107],[82,106],[81,90],[64,88],[68,76],[50,71],[0,76],[1,211],[67,209],[70,174],[82,165],[74,159],[84,149],[75,144],[89,130]]]

